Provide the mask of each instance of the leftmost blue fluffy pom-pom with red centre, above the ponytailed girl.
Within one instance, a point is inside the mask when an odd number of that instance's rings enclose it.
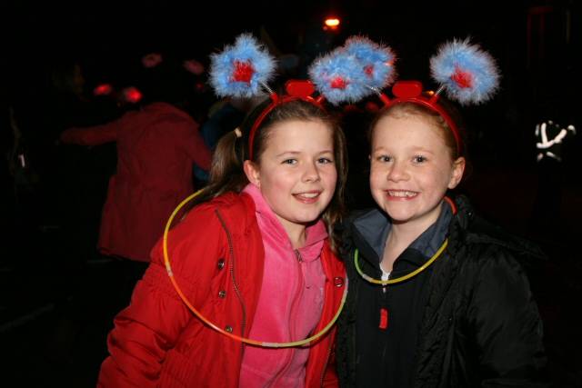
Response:
[[[273,76],[275,60],[249,34],[210,56],[210,84],[218,96],[253,97]]]

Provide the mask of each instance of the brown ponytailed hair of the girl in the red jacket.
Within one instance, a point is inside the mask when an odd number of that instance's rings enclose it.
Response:
[[[249,114],[241,126],[242,137],[235,132],[225,134],[216,145],[213,156],[210,180],[203,192],[196,198],[195,204],[200,204],[226,192],[240,193],[248,184],[243,163],[248,159],[248,133],[257,117],[271,104],[268,99],[259,104]],[[332,249],[336,251],[338,240],[333,232],[334,225],[341,220],[345,213],[344,195],[347,179],[346,137],[341,130],[336,117],[327,113],[321,107],[300,99],[277,105],[256,129],[253,142],[254,161],[260,162],[265,151],[271,129],[276,125],[288,121],[319,121],[326,124],[332,131],[334,142],[334,159],[337,170],[336,191],[327,206],[322,218],[326,223],[327,234],[330,236]]]

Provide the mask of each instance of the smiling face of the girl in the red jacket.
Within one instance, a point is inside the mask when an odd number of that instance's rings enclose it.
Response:
[[[245,172],[290,233],[316,221],[330,203],[337,180],[334,159],[326,124],[292,120],[269,128],[265,150],[257,162],[245,162]]]

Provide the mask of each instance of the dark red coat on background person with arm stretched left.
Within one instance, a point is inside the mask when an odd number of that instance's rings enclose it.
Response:
[[[72,128],[65,143],[117,143],[117,172],[109,180],[99,250],[148,261],[176,205],[192,194],[193,163],[210,168],[198,124],[171,104],[149,104],[115,122]]]

